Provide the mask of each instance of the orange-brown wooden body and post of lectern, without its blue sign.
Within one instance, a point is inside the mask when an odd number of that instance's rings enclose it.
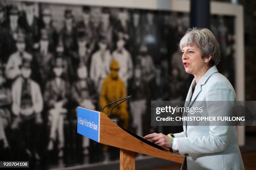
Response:
[[[99,113],[99,143],[120,148],[120,170],[135,170],[135,153],[177,163],[182,163],[184,160],[184,157],[171,153],[168,148],[149,145],[151,142],[148,140],[120,128],[103,112]]]

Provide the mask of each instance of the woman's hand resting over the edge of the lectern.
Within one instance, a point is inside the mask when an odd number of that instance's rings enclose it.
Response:
[[[151,133],[149,135],[144,136],[145,139],[152,140],[156,145],[170,148],[172,144],[172,137],[168,137],[162,133]]]

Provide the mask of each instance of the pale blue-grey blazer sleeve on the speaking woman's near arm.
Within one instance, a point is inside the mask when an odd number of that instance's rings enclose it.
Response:
[[[225,82],[214,83],[206,94],[207,112],[209,116],[216,113],[220,115],[227,115],[228,110],[221,107],[216,107],[210,101],[235,101],[236,94],[233,87]],[[230,140],[230,131],[232,126],[211,126],[210,132],[207,136],[200,136],[196,138],[179,138],[178,147],[180,155],[185,153],[215,153],[220,152],[226,148]]]

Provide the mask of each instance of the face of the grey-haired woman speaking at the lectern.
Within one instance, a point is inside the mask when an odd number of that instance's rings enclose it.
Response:
[[[182,48],[182,62],[185,71],[192,75],[197,75],[207,66],[205,60],[202,59],[200,49],[196,45],[193,45],[192,47],[185,46]]]

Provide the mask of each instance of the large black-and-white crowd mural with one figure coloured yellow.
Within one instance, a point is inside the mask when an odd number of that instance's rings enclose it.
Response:
[[[1,1],[0,160],[33,169],[117,160],[116,148],[77,134],[77,106],[101,110],[132,95],[111,116],[141,136],[158,131],[151,101],[185,100],[192,80],[179,49],[188,28],[188,13]],[[211,30],[234,85],[234,18],[212,16]]]

